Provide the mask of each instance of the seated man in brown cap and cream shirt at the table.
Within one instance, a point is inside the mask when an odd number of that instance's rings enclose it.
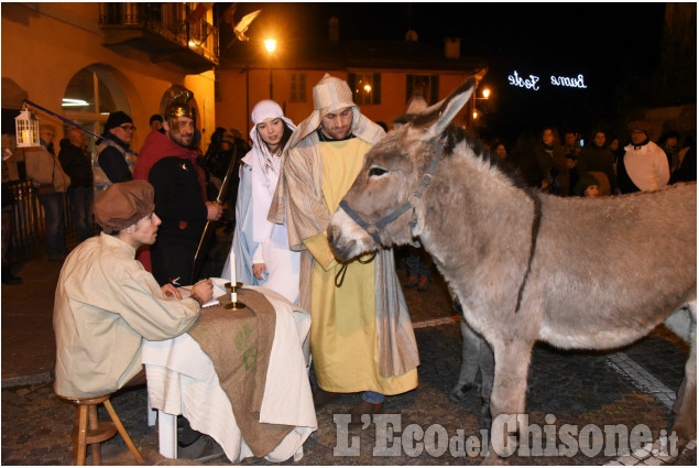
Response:
[[[70,252],[56,287],[58,395],[97,396],[144,383],[141,339],[186,333],[211,300],[211,280],[182,298],[135,260],[139,247],[155,242],[161,220],[153,209],[153,187],[145,181],[113,184],[95,200],[103,232]]]

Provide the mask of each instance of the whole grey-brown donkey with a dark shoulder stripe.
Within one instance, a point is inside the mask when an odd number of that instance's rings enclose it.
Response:
[[[494,353],[487,462],[512,454],[512,437],[494,423],[524,413],[535,341],[618,348],[686,306],[690,356],[674,422],[686,444],[697,424],[696,183],[601,198],[524,188],[450,126],[474,88],[469,78],[444,101],[405,116],[367,153],[328,228],[336,255],[413,238],[433,255]]]

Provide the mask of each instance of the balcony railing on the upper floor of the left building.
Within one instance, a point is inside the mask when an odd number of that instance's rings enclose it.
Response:
[[[189,7],[185,3],[103,2],[99,4],[99,24],[112,34],[108,43],[138,42],[140,48],[172,56],[173,51],[163,47],[153,36],[117,34],[117,30],[145,31],[173,45],[192,51],[212,65],[218,65],[218,28],[206,20],[188,21]]]

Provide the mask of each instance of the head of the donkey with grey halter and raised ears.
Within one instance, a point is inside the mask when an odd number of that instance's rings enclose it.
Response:
[[[418,215],[422,195],[432,181],[429,173],[434,174],[443,156],[449,123],[474,88],[471,77],[430,108],[413,101],[394,130],[367,153],[328,228],[338,258],[349,260],[380,246],[408,243],[419,233]]]

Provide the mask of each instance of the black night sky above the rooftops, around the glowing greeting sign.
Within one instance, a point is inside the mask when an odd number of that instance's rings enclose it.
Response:
[[[659,64],[665,3],[239,3],[237,18],[262,9],[259,24],[287,36],[327,37],[340,20],[341,40],[418,41],[444,47],[460,37],[461,55],[485,59],[482,86],[498,97],[498,126],[513,140],[544,126],[588,132],[613,120],[616,86],[647,76]],[[258,20],[255,20],[258,21]],[[514,72],[539,77],[539,90],[509,85]],[[585,76],[586,89],[549,85],[550,76]]]

